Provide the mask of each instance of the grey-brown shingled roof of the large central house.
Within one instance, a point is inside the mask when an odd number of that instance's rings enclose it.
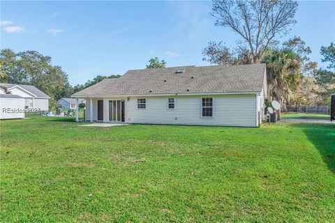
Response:
[[[265,68],[259,63],[128,70],[122,77],[104,79],[72,96],[261,92]],[[176,73],[179,69],[185,71]]]

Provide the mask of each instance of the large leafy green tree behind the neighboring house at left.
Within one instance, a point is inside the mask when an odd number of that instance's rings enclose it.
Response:
[[[31,50],[15,53],[2,49],[0,65],[0,82],[34,85],[50,96],[51,107],[54,100],[71,93],[68,76],[60,66],[52,66],[50,56]]]

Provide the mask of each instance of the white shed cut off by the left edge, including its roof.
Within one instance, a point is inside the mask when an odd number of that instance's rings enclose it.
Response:
[[[24,118],[24,98],[0,89],[0,120]]]

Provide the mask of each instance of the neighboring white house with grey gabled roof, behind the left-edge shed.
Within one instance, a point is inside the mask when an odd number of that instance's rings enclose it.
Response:
[[[40,109],[40,111],[49,110],[50,97],[32,85],[23,84],[0,84],[4,86],[13,95],[19,95],[24,98],[24,107],[29,109]]]

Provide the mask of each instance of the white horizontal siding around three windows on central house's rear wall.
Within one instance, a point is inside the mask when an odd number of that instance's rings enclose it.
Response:
[[[201,117],[202,98],[213,98],[213,118]],[[137,98],[126,100],[126,123],[257,126],[255,95],[182,95],[178,107],[166,109],[169,97],[147,97],[147,109],[137,109]]]

